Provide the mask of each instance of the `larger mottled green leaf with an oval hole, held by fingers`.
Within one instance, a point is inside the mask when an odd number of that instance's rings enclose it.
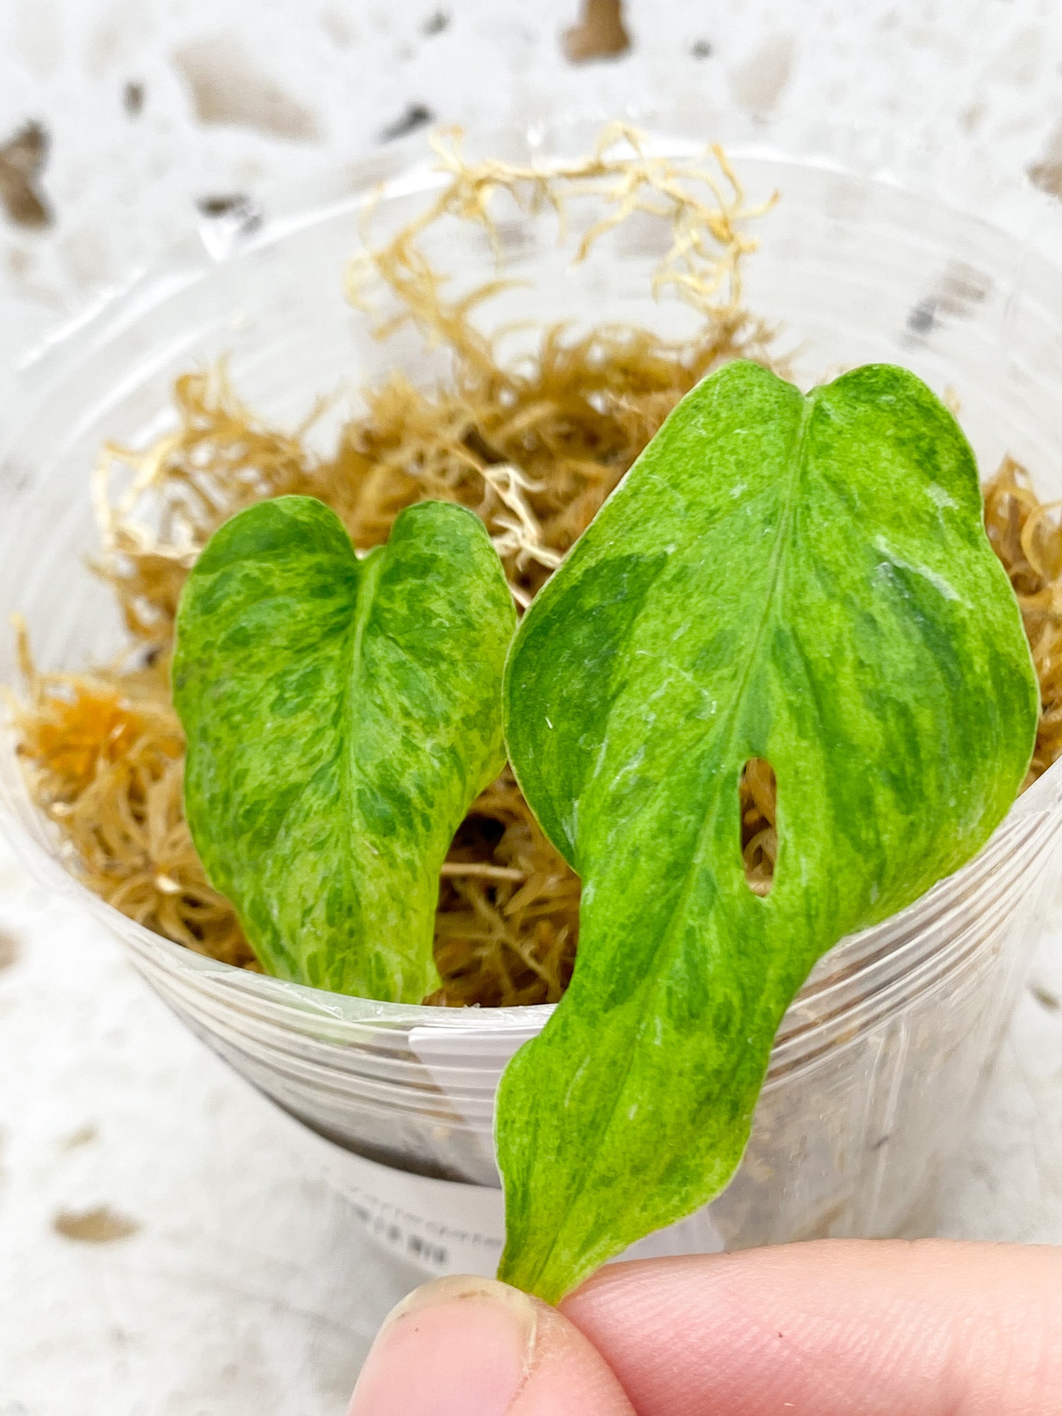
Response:
[[[510,758],[583,881],[572,984],[501,1083],[500,1276],[558,1298],[729,1180],[782,1015],[841,936],[971,857],[1038,692],[973,453],[912,374],[729,364],[524,617]],[[777,777],[746,884],[738,784]]]

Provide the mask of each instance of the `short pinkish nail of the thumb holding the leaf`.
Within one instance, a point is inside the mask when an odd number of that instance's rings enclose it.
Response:
[[[535,1348],[535,1304],[493,1279],[436,1279],[384,1323],[348,1416],[504,1416]]]

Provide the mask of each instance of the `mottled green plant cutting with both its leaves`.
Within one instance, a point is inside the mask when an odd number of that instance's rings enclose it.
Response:
[[[207,545],[177,616],[187,814],[270,971],[430,991],[513,627],[486,531],[445,503],[364,562],[312,498]],[[1038,711],[973,453],[923,384],[877,365],[804,396],[735,361],[687,394],[508,657],[508,756],[583,889],[572,983],[498,1092],[503,1277],[555,1301],[724,1188],[811,964],[984,844]],[[777,784],[765,895],[752,759]]]

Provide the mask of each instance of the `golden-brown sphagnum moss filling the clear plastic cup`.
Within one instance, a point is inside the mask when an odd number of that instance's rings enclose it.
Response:
[[[282,433],[234,394],[224,365],[174,387],[176,428],[147,450],[109,446],[93,494],[96,571],[118,598],[132,647],[89,674],[40,671],[23,633],[27,698],[16,709],[34,796],[64,834],[71,868],[129,918],[198,953],[258,969],[229,902],[211,888],[183,814],[184,741],[170,700],[173,619],[184,578],[214,530],[242,507],[283,494],[337,511],[355,547],[388,537],[425,498],[459,501],[487,524],[518,605],[559,559],[674,405],[735,355],[773,365],[770,331],[741,300],[748,234],[763,208],[745,202],[712,150],[675,163],[627,127],[606,129],[582,161],[548,170],[469,163],[440,140],[450,183],[413,224],[351,263],[348,293],[374,287],[396,313],[449,348],[447,379],[430,389],[395,372],[364,391],[364,411],[329,457],[307,446],[312,421]],[[493,202],[552,207],[583,219],[575,258],[636,212],[670,232],[654,289],[700,316],[685,341],[606,324],[542,331],[530,358],[506,364],[477,312],[504,285],[446,300],[423,249],[443,219],[494,232]],[[154,511],[147,520],[146,507]],[[1029,780],[1062,752],[1062,525],[1024,469],[1007,459],[986,489],[986,524],[1018,596],[1041,683],[1042,716]],[[742,845],[753,889],[776,851],[773,780],[750,763],[742,782]],[[443,867],[435,956],[443,980],[429,1003],[555,1001],[578,942],[579,882],[538,828],[508,770],[473,803]]]

